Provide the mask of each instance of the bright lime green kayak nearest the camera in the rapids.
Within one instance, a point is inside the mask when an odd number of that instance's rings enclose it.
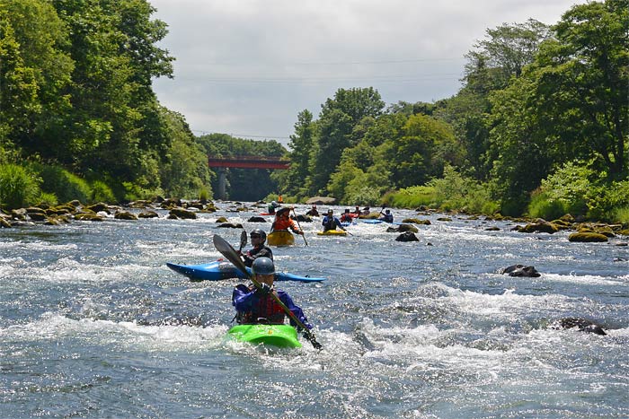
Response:
[[[237,325],[227,332],[241,342],[271,345],[280,348],[300,348],[297,330],[290,325]]]

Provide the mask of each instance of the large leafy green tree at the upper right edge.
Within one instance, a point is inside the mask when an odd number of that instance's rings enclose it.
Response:
[[[554,27],[530,76],[539,127],[566,160],[594,158],[611,178],[626,176],[629,141],[629,2],[580,4]]]

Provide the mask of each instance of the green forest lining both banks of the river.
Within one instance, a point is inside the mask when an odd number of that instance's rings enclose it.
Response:
[[[296,111],[288,150],[195,137],[159,104],[151,81],[173,76],[174,58],[155,47],[167,32],[153,12],[0,0],[0,205],[211,197],[207,155],[245,153],[291,166],[229,170],[231,199],[629,223],[629,0],[488,29],[451,98],[387,105],[373,86],[339,89],[317,116]]]

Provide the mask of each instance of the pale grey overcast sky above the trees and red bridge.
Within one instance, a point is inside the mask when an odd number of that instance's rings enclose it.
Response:
[[[340,88],[387,104],[448,98],[465,53],[502,23],[554,24],[585,0],[149,0],[168,24],[174,79],[155,93],[195,135],[288,144],[297,114],[318,118]]]

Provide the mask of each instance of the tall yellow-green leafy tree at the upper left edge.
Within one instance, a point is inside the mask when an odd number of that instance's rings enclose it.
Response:
[[[0,0],[2,148],[25,157],[51,147],[42,147],[40,137],[69,109],[65,91],[74,63],[64,52],[67,43],[66,26],[48,2]]]

